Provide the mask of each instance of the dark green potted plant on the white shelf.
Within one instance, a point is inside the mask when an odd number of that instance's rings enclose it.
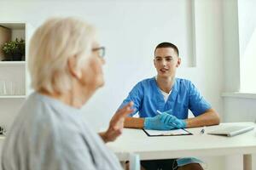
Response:
[[[5,42],[3,44],[3,54],[5,61],[20,61],[25,60],[25,41],[18,38],[15,41]]]

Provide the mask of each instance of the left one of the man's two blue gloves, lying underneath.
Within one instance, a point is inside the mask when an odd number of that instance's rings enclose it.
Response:
[[[171,130],[173,127],[171,124],[164,123],[161,120],[166,119],[170,115],[167,113],[163,113],[161,115],[157,115],[154,117],[146,117],[144,120],[144,128],[146,129],[154,129],[154,130]]]

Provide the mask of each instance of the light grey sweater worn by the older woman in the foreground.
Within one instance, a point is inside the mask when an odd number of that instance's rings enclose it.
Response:
[[[121,169],[80,110],[38,93],[20,109],[2,151],[3,170]]]

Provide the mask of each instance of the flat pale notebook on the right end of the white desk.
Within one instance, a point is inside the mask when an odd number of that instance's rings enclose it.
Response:
[[[223,135],[223,136],[236,136],[237,134],[246,133],[250,130],[253,130],[253,125],[234,125],[234,126],[223,126],[217,127],[216,129],[208,132],[208,134],[215,134],[215,135]]]

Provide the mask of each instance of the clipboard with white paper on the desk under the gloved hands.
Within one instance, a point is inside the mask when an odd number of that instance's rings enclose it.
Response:
[[[184,128],[173,130],[150,130],[143,128],[143,131],[148,135],[148,137],[193,135],[193,133],[190,133],[188,130]]]

